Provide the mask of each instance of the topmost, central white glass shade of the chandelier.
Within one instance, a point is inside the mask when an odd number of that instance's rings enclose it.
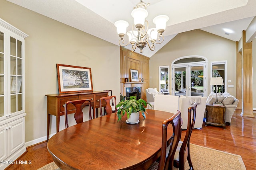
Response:
[[[134,18],[134,25],[137,28],[142,27],[145,22],[145,18],[148,16],[148,11],[144,8],[136,8],[132,11],[132,17]]]

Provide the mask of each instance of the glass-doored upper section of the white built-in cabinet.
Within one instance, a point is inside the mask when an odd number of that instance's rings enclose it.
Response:
[[[25,112],[24,38],[27,36],[0,18],[0,123]]]

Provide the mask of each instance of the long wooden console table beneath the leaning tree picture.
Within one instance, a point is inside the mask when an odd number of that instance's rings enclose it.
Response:
[[[50,115],[56,116],[56,131],[60,130],[60,116],[64,115],[64,104],[70,100],[90,99],[92,100],[93,118],[95,109],[100,107],[100,98],[108,96],[108,91],[94,91],[66,94],[46,94],[47,96],[47,141],[49,139]],[[68,106],[68,114],[74,113],[75,107]],[[98,113],[98,110],[97,110]],[[98,115],[97,115],[98,116]]]

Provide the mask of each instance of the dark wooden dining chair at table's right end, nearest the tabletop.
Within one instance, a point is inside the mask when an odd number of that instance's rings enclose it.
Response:
[[[173,159],[181,133],[180,111],[162,123],[162,149],[159,163],[155,161],[148,170],[173,170]],[[172,131],[167,127],[172,124]],[[170,133],[170,138],[168,138]],[[168,139],[167,139],[168,138]]]

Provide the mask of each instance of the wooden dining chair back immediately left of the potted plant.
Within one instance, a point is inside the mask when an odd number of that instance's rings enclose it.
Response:
[[[113,99],[114,99],[114,101],[113,101]],[[114,106],[112,106],[110,104],[110,100],[113,101]],[[106,102],[106,106],[105,107],[103,106],[105,104],[105,102],[103,102],[103,101]],[[117,109],[116,109],[116,96],[107,96],[107,97],[100,98],[100,116],[103,116],[102,107],[104,107],[104,114],[105,114],[105,112],[106,112],[107,115],[109,115],[111,113],[116,113],[117,112]]]

